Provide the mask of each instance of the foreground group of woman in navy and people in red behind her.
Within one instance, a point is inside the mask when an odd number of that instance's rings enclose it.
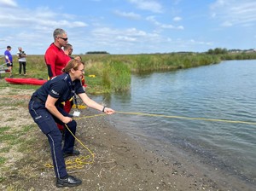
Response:
[[[71,56],[73,47],[68,43],[67,32],[57,28],[53,32],[53,38],[54,43],[49,45],[44,55],[49,81],[32,94],[28,108],[32,119],[48,138],[56,187],[74,187],[82,181],[67,174],[64,158],[79,155],[80,152],[74,149],[73,135],[75,135],[77,123],[73,119],[73,114],[70,114],[71,107],[68,102],[79,96],[88,107],[106,114],[113,114],[114,110],[98,104],[85,94],[82,84],[84,62],[79,56],[75,58]],[[61,104],[63,102],[65,102],[64,107]],[[61,126],[62,128],[64,126],[64,136],[61,134]],[[68,127],[73,135],[69,130],[65,130],[65,127]]]

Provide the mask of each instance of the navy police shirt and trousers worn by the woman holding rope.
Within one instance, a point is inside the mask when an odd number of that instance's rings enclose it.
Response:
[[[31,100],[29,101],[29,113],[32,119],[38,124],[39,128],[48,137],[49,145],[51,148],[51,155],[53,165],[55,169],[55,175],[58,178],[67,176],[65,160],[63,153],[73,153],[74,137],[66,130],[64,136],[64,146],[61,149],[61,131],[58,129],[56,123],[64,125],[64,123],[57,119],[53,114],[49,113],[45,108],[45,101],[49,96],[57,98],[55,107],[63,116],[72,117],[59,107],[63,101],[70,100],[74,94],[84,93],[84,89],[79,79],[71,81],[71,78],[67,72],[52,78],[42,85],[36,92],[33,93]],[[67,127],[75,135],[77,123],[72,120],[67,124]]]

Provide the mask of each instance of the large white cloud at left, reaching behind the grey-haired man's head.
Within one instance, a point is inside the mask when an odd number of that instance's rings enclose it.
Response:
[[[3,4],[3,1],[1,3]],[[6,5],[4,8],[6,9],[0,7],[0,34],[4,38],[5,45],[22,46],[30,54],[44,54],[45,49],[53,42],[52,32],[56,27],[64,28],[68,33],[73,31],[68,36],[73,34],[76,38],[75,34],[82,31],[81,28],[88,26],[83,20],[77,20],[77,15],[62,13],[58,9],[52,10],[48,7],[20,9]]]

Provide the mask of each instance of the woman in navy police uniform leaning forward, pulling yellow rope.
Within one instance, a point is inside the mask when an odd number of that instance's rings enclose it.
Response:
[[[29,101],[29,113],[39,128],[48,137],[51,155],[56,176],[57,187],[74,187],[82,183],[79,178],[67,174],[64,157],[79,155],[74,150],[74,137],[66,130],[64,146],[61,149],[61,131],[56,123],[67,124],[67,127],[75,135],[77,123],[73,116],[66,113],[60,103],[69,100],[74,94],[78,95],[88,106],[107,114],[113,114],[114,110],[91,100],[84,92],[81,78],[84,73],[84,62],[71,60],[63,69],[63,74],[52,78],[33,93]]]

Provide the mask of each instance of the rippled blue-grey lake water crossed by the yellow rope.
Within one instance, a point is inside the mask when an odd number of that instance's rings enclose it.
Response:
[[[224,177],[256,185],[256,61],[133,75],[129,92],[92,98],[134,113],[117,113],[111,121],[145,144],[158,142],[160,153],[169,144],[202,164],[222,169]]]

